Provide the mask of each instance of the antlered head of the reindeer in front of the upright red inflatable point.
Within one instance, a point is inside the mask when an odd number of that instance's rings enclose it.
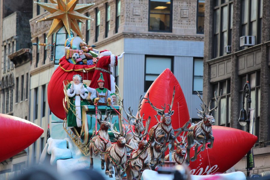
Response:
[[[149,103],[151,105],[151,107],[157,111],[157,115],[160,115],[161,116],[161,122],[163,122],[165,125],[170,125],[171,124],[171,116],[173,115],[174,113],[174,110],[172,110],[172,107],[173,107],[173,100],[174,100],[174,95],[175,95],[175,87],[173,87],[173,99],[172,99],[172,103],[171,105],[168,104],[169,106],[169,111],[168,113],[165,113],[165,109],[166,109],[166,106],[164,104],[164,107],[162,107],[162,109],[158,109],[157,107],[155,107],[151,102],[150,102],[150,99],[149,99],[149,93],[147,94],[147,97],[148,98],[144,98],[148,101],[146,101],[145,103]],[[155,116],[155,118],[157,119],[157,115]],[[158,119],[157,119],[158,122],[160,122]]]

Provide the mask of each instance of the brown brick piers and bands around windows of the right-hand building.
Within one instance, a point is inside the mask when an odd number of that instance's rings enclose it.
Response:
[[[260,1],[258,1],[260,2]],[[205,5],[205,37],[204,37],[204,75],[203,75],[203,95],[204,100],[209,101],[213,97],[212,89],[213,84],[222,82],[227,79],[226,73],[222,75],[219,69],[220,64],[227,64],[227,71],[230,72],[230,124],[231,128],[239,128],[238,118],[239,109],[242,106],[240,101],[240,92],[243,88],[241,85],[240,77],[253,72],[260,72],[260,116],[256,119],[259,124],[259,141],[255,144],[254,158],[255,168],[251,170],[250,174],[258,174],[263,171],[269,171],[268,158],[270,158],[269,147],[269,46],[270,46],[270,1],[262,0],[262,37],[261,44],[255,46],[248,46],[246,48],[240,47],[239,38],[242,33],[242,0],[234,0],[233,2],[233,21],[232,21],[232,52],[229,54],[218,55],[213,58],[214,49],[214,5],[212,0],[206,0]],[[258,12],[258,11],[257,11]],[[221,13],[221,10],[220,10]],[[222,22],[220,22],[222,23]],[[248,22],[249,23],[249,22]],[[222,27],[222,26],[220,26]],[[250,30],[251,31],[251,30]],[[227,61],[229,59],[229,61]],[[230,66],[228,66],[228,63]],[[253,64],[253,65],[249,65]],[[214,68],[216,67],[216,68]],[[225,67],[225,72],[226,72]],[[214,70],[214,71],[213,71]],[[221,75],[220,75],[221,74]],[[245,99],[247,101],[247,99]],[[255,101],[255,97],[251,97],[251,101]],[[227,106],[229,107],[229,106]],[[247,110],[247,107],[245,106]],[[262,160],[261,156],[265,159]],[[235,165],[236,170],[245,172],[245,158]]]

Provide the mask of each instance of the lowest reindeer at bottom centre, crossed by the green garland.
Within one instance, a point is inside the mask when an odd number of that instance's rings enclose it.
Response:
[[[141,170],[145,169],[151,170],[148,153],[145,149],[147,148],[146,146],[147,146],[146,140],[140,141],[138,149],[131,154],[132,159],[137,157],[144,150],[144,152],[139,156],[139,158],[132,160],[129,162],[129,164],[127,164],[128,166],[126,170],[127,180],[133,180],[134,178],[140,180],[142,177]]]

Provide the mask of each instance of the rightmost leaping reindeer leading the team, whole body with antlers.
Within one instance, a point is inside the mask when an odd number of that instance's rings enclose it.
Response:
[[[202,111],[197,109],[199,111],[198,113],[200,113],[200,114],[198,114],[198,116],[202,120],[200,122],[198,122],[197,124],[190,126],[189,129],[192,131],[189,131],[187,133],[187,165],[189,165],[190,161],[195,161],[197,159],[198,146],[200,146],[202,144],[200,151],[204,151],[205,144],[209,143],[209,142],[210,142],[210,144],[207,145],[208,148],[213,147],[214,137],[213,137],[213,133],[212,133],[212,125],[214,125],[215,119],[211,115],[212,114],[211,112],[213,110],[216,110],[218,107],[220,97],[221,97],[221,90],[220,90],[220,96],[219,96],[218,100],[216,97],[216,91],[214,92],[214,96],[215,96],[215,100],[217,102],[217,105],[213,109],[210,109],[211,101],[209,102],[209,106],[206,106],[205,102],[202,100],[198,91],[197,91],[197,95],[203,103],[203,104],[200,104],[200,106],[202,107]],[[205,115],[207,108],[208,108],[208,115]],[[189,155],[190,148],[193,147],[194,145],[195,145],[195,154],[190,159],[190,155]]]

